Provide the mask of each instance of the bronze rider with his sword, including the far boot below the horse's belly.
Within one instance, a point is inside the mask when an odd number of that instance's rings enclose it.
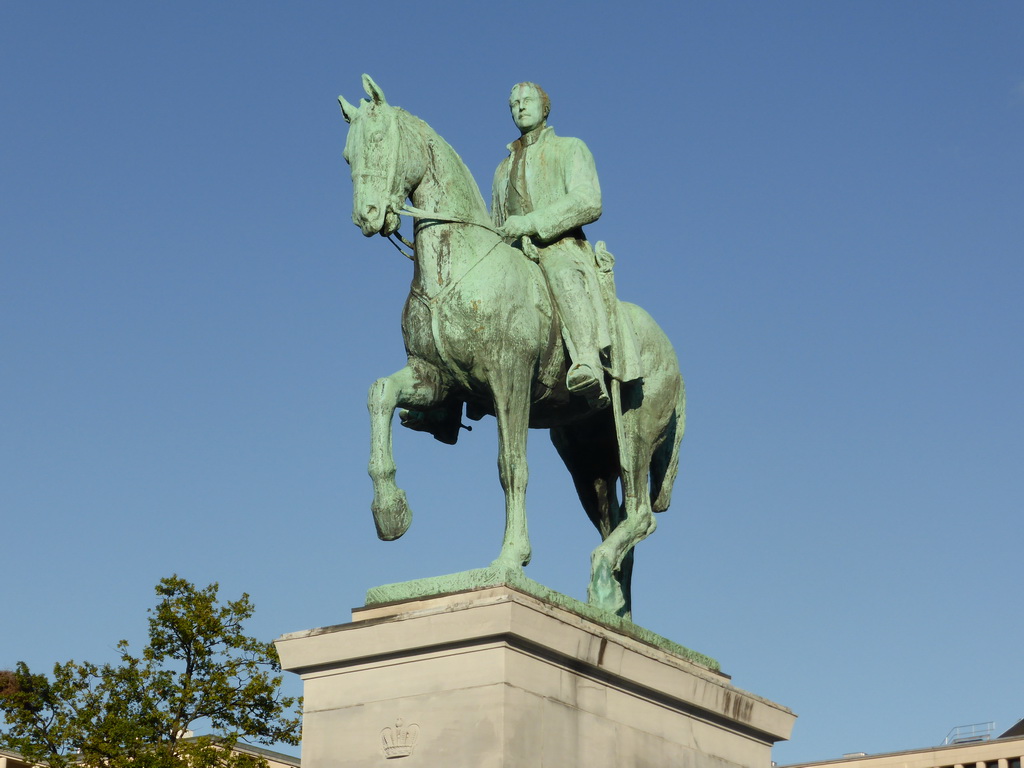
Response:
[[[590,409],[605,409],[605,373],[625,384],[642,372],[629,315],[617,309],[614,258],[600,242],[595,254],[583,231],[601,215],[594,158],[583,141],[548,126],[551,100],[541,86],[517,84],[509,106],[521,135],[495,173],[490,215],[499,233],[541,265],[568,351],[566,388]],[[466,406],[470,419],[483,413]],[[402,426],[447,443],[458,440],[461,416],[462,402],[399,412]]]

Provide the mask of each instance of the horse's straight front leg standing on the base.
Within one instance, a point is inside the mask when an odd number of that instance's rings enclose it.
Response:
[[[498,418],[498,475],[505,492],[505,537],[494,565],[521,568],[529,563],[529,532],[526,529],[526,436],[529,431],[529,382],[527,374],[504,371],[503,381],[492,382],[495,416]]]

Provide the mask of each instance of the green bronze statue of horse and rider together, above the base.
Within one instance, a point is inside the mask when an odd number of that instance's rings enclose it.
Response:
[[[668,509],[679,468],[686,395],[668,337],[618,301],[613,258],[583,227],[601,214],[583,141],[547,125],[550,99],[520,83],[509,105],[520,137],[498,168],[488,215],[456,152],[425,122],[368,98],[339,96],[349,124],[352,220],[367,237],[414,219],[413,282],[401,317],[407,364],[370,388],[370,476],[378,536],[391,541],[412,512],[395,483],[395,410],[403,426],[455,443],[463,412],[498,420],[505,535],[492,565],[521,571],[526,529],[526,435],[550,430],[588,517],[601,535],[588,600],[630,617],[634,547]],[[397,236],[400,238],[400,236]]]

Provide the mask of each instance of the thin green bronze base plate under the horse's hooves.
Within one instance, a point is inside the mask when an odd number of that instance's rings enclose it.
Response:
[[[589,618],[592,622],[597,622],[605,627],[622,632],[624,635],[632,637],[635,640],[640,640],[648,645],[653,645],[655,648],[674,653],[677,656],[685,658],[687,662],[693,662],[715,672],[721,672],[722,670],[721,665],[711,656],[690,650],[650,630],[635,625],[633,622],[623,618],[613,612],[602,610],[568,595],[555,592],[553,589],[549,589],[543,584],[539,584],[532,579],[527,578],[518,568],[505,568],[492,565],[486,568],[463,570],[459,573],[446,573],[445,575],[418,579],[412,582],[385,584],[380,587],[373,587],[367,592],[367,605],[383,605],[404,600],[440,597],[442,595],[452,595],[457,592],[468,592],[487,587],[511,587],[540,600],[549,602],[552,605],[556,605],[559,608],[571,611],[584,618]]]

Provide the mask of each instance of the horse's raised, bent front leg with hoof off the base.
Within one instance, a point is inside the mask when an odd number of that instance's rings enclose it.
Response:
[[[367,408],[370,409],[370,478],[374,481],[371,509],[377,525],[377,536],[386,542],[397,539],[413,521],[406,501],[406,492],[394,481],[397,467],[391,447],[391,421],[394,410],[429,408],[440,400],[434,377],[406,366],[390,376],[378,379],[370,387]]]

